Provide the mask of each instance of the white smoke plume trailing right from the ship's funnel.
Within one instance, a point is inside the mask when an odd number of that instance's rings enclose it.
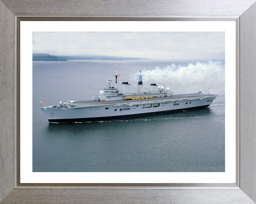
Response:
[[[165,87],[170,87],[176,93],[177,91],[183,93],[185,90],[194,92],[199,89],[208,92],[208,88],[225,91],[225,65],[220,61],[197,62],[187,66],[177,66],[173,63],[163,68],[144,69],[142,74],[144,89],[150,83],[156,83],[161,86],[165,84]],[[132,80],[136,78],[132,77]]]

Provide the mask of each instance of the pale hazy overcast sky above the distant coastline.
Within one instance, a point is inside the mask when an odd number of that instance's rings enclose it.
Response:
[[[33,53],[225,60],[225,32],[33,32]]]

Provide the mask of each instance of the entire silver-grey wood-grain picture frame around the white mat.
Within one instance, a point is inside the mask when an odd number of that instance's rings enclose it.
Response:
[[[118,4],[104,5],[100,1],[0,1],[1,36],[1,152],[0,155],[0,203],[254,203],[256,201],[256,162],[255,162],[255,80],[253,54],[256,44],[255,11],[253,1],[163,1],[155,2],[119,1]],[[133,3],[133,4],[132,4]],[[54,4],[54,6],[52,5]],[[123,9],[130,6],[131,9]],[[180,7],[180,5],[182,5]],[[207,5],[207,7],[205,6]],[[143,7],[146,6],[146,7]],[[61,10],[55,9],[61,7]],[[84,10],[82,9],[84,8]],[[118,9],[119,8],[119,9]],[[140,9],[139,9],[140,8]],[[147,8],[147,9],[142,9]],[[169,9],[171,8],[171,9]],[[189,9],[193,8],[193,9]],[[200,8],[197,10],[197,8]],[[103,12],[102,12],[103,10]],[[199,12],[199,14],[198,14]],[[151,15],[150,15],[151,14]],[[153,14],[153,17],[152,17]],[[71,17],[71,15],[73,17]],[[95,15],[98,17],[95,17]],[[31,17],[33,16],[33,17]],[[16,124],[16,97],[18,85],[16,66],[20,55],[18,47],[18,23],[21,20],[42,20],[39,16],[54,20],[74,19],[74,16],[86,16],[88,20],[229,20],[237,25],[237,176],[235,184],[159,184],[156,185],[109,185],[69,188],[68,186],[31,187],[20,186],[16,163],[19,145],[15,144],[15,135],[19,130]],[[62,17],[61,17],[62,16]],[[66,16],[66,17],[63,17]],[[114,17],[118,16],[118,17]],[[133,17],[127,17],[133,16]],[[158,17],[156,17],[158,16]],[[192,16],[192,17],[191,17]],[[79,18],[78,18],[79,19]],[[17,34],[17,35],[16,35]],[[252,87],[248,91],[247,87]],[[241,100],[244,99],[244,100]],[[16,147],[16,148],[15,148]],[[43,188],[42,188],[43,187]]]

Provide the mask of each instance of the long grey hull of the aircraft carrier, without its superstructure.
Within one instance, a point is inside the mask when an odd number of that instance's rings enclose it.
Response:
[[[109,120],[208,107],[217,95],[180,94],[143,100],[75,101],[64,107],[41,107],[50,123]]]

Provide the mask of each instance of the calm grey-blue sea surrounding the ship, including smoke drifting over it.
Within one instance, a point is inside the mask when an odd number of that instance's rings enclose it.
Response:
[[[33,62],[33,172],[224,172],[225,62],[70,60]],[[208,92],[209,108],[127,120],[49,124],[39,109],[91,100],[113,74],[136,90],[165,84],[176,94]]]

